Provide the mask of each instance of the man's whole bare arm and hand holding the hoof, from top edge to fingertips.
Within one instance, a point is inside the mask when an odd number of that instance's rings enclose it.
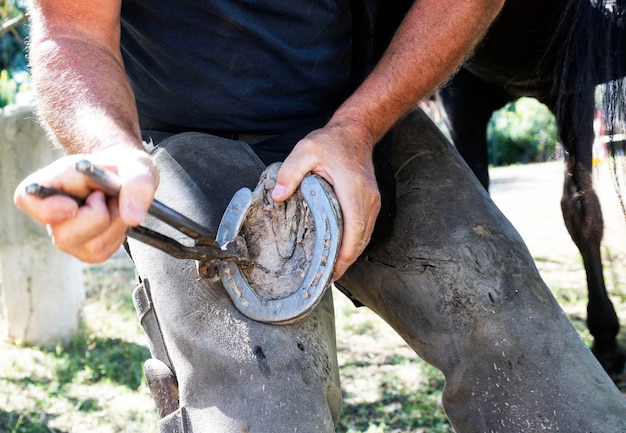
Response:
[[[335,280],[367,246],[380,210],[371,157],[374,143],[454,73],[503,3],[416,0],[365,81],[335,111],[328,125],[302,139],[285,160],[274,200],[291,196],[309,171],[335,188],[344,217]]]

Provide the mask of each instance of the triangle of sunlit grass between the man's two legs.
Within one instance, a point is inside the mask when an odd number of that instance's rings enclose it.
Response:
[[[443,375],[371,311],[335,295],[344,390],[337,432],[452,431],[441,406]]]

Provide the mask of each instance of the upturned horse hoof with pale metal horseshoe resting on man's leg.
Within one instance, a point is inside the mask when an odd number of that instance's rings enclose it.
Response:
[[[285,203],[271,192],[280,164],[269,166],[254,192],[243,188],[224,213],[217,241],[245,239],[253,263],[224,261],[222,283],[253,320],[290,324],[310,313],[330,286],[341,244],[341,213],[332,187],[309,175]]]

